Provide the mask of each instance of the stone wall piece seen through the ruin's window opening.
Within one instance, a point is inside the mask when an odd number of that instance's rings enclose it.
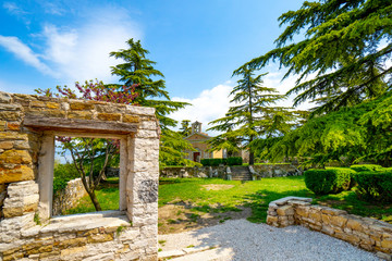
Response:
[[[64,189],[56,191],[53,196],[52,215],[61,215],[63,211],[77,206],[81,198],[87,196],[82,178],[75,178],[66,183]]]

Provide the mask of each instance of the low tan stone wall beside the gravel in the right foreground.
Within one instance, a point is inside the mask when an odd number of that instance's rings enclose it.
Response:
[[[392,259],[391,224],[310,202],[310,198],[297,197],[270,202],[267,224],[277,227],[302,225],[377,252],[382,259]]]

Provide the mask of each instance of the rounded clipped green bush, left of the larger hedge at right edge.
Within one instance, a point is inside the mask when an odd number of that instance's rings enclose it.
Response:
[[[342,190],[348,190],[354,174],[355,171],[344,167],[313,169],[304,173],[306,187],[316,195],[336,194]]]

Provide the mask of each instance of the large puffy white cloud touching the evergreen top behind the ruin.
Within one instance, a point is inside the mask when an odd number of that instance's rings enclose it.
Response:
[[[110,58],[109,53],[126,48],[125,41],[130,38],[140,38],[137,26],[125,13],[107,11],[95,14],[79,28],[45,26],[42,35],[48,47],[45,59],[52,62],[68,82],[114,80],[110,66],[122,61]]]

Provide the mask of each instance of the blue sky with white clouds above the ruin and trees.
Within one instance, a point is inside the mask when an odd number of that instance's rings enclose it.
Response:
[[[282,32],[278,17],[302,0],[127,0],[2,1],[0,90],[34,94],[35,88],[101,79],[117,83],[110,51],[140,39],[166,75],[175,100],[193,103],[176,120],[207,123],[223,116],[232,72],[273,48]],[[266,86],[282,92],[293,79],[271,65]],[[264,71],[266,72],[266,71]]]

